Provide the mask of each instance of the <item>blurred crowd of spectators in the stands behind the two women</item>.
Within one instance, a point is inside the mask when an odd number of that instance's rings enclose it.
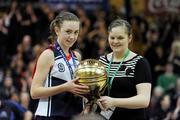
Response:
[[[82,54],[82,59],[98,59],[111,52],[107,26],[117,16],[127,18],[113,6],[108,12],[102,8],[89,12],[80,5],[62,10],[76,13],[82,22],[72,48]],[[33,118],[37,103],[29,95],[33,69],[40,53],[51,43],[49,24],[59,12],[48,4],[37,7],[16,1],[0,9],[0,119],[6,115],[18,120]],[[128,21],[133,28],[130,49],[146,57],[151,65],[153,89],[147,111],[150,120],[180,119],[179,14],[132,13]]]

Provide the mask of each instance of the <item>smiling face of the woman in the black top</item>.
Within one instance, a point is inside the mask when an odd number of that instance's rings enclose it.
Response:
[[[131,42],[131,38],[125,26],[117,26],[109,32],[108,41],[113,52],[124,53]]]

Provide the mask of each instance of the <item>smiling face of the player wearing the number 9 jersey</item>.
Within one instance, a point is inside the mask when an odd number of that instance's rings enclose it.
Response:
[[[78,21],[64,21],[61,28],[56,30],[58,40],[65,47],[72,47],[79,34],[80,23]]]

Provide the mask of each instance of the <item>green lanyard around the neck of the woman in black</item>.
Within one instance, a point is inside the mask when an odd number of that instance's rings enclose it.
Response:
[[[113,83],[113,80],[114,80],[114,77],[117,75],[117,71],[119,70],[119,68],[121,67],[121,65],[122,65],[122,62],[125,60],[125,58],[129,55],[129,52],[130,52],[130,50],[129,49],[127,49],[126,50],[126,52],[125,52],[125,54],[124,54],[124,56],[123,56],[123,59],[122,59],[122,61],[119,63],[119,65],[118,65],[118,68],[114,71],[114,73],[112,74],[113,76],[111,77],[111,79],[109,79],[109,77],[110,77],[110,69],[111,69],[111,63],[112,63],[112,61],[113,61],[113,55],[112,55],[112,57],[111,57],[111,61],[110,61],[110,63],[109,63],[109,65],[108,65],[108,96],[110,95],[110,90],[111,90],[111,88],[112,88],[112,83]]]

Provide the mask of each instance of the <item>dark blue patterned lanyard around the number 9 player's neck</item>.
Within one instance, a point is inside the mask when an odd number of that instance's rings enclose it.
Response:
[[[73,72],[73,69],[72,69],[72,67],[71,67],[71,64],[69,63],[69,61],[68,61],[67,58],[66,58],[66,55],[65,55],[64,51],[62,50],[62,48],[61,48],[61,46],[59,45],[58,42],[55,43],[55,47],[57,48],[57,50],[58,50],[58,51],[61,53],[61,55],[63,56],[63,59],[64,59],[64,61],[66,62],[66,65],[68,66],[68,69],[69,69],[69,71],[70,71],[71,79],[73,79],[73,73],[74,73],[74,72]],[[75,56],[74,56],[74,54],[73,54],[72,51],[70,51],[70,55],[71,55],[71,58],[72,58],[72,61],[73,61],[73,65],[74,65],[74,67],[76,67]]]

